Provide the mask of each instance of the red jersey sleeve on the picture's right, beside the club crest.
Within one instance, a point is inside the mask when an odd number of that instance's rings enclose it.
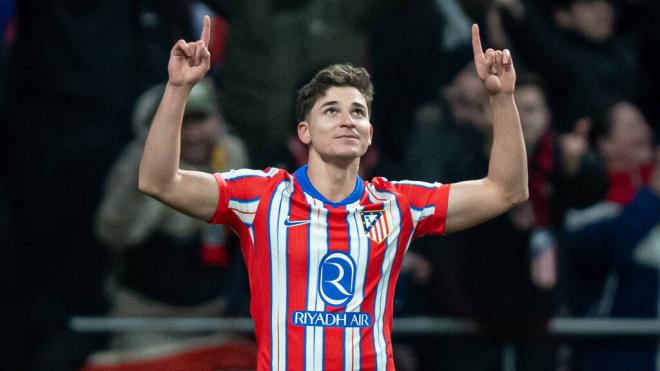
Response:
[[[393,182],[410,206],[413,238],[444,235],[451,184],[404,180]]]

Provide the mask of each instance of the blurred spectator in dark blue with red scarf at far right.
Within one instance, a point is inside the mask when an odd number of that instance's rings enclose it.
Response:
[[[603,202],[567,218],[569,306],[577,316],[658,318],[660,150],[654,161],[650,127],[629,102],[594,123],[610,188]],[[655,337],[579,339],[574,350],[576,371],[656,370],[660,355]]]

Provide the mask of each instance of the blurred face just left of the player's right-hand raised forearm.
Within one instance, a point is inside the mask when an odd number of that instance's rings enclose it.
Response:
[[[463,68],[447,87],[445,94],[449,107],[458,121],[473,124],[484,133],[490,131],[488,93],[474,72],[473,64]]]

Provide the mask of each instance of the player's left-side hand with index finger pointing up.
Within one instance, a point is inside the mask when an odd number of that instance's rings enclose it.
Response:
[[[211,19],[204,16],[204,27],[198,41],[177,41],[170,52],[167,65],[169,83],[175,86],[192,87],[201,80],[211,67],[211,53],[208,50],[211,37]]]

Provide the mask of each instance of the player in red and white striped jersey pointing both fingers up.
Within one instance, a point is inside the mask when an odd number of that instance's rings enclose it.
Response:
[[[241,238],[250,278],[259,370],[391,370],[392,301],[413,237],[458,231],[527,199],[527,168],[507,50],[472,40],[490,93],[488,176],[453,185],[363,181],[373,88],[362,68],[335,65],[300,90],[298,135],[309,162],[207,174],[179,169],[188,92],[209,68],[209,20],[201,40],[172,49],[169,81],[140,165],[139,187],[171,207]],[[451,191],[450,191],[451,188]]]

